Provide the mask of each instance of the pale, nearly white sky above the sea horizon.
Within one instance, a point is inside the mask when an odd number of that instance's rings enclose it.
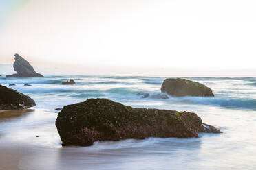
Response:
[[[256,77],[255,0],[1,0],[0,74]]]

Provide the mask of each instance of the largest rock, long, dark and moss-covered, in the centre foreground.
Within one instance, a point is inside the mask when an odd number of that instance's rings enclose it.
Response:
[[[132,108],[109,99],[87,99],[65,106],[58,113],[56,127],[63,145],[81,146],[126,138],[189,138],[198,137],[198,132],[221,133],[213,126],[204,126],[192,112]]]

